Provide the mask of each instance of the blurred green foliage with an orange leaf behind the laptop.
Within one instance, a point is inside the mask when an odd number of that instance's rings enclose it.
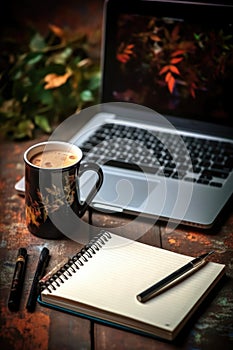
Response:
[[[26,48],[12,40],[0,75],[1,133],[33,138],[81,108],[99,101],[100,65],[90,57],[86,35],[49,26],[46,36],[34,31]],[[13,48],[13,49],[12,49]]]

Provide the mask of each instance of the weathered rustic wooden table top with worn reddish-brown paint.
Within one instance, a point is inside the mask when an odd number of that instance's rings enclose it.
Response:
[[[144,233],[147,244],[161,246],[188,255],[198,255],[214,249],[211,260],[226,264],[226,278],[199,309],[178,338],[172,342],[154,340],[126,331],[103,326],[86,319],[67,315],[37,305],[34,313],[25,309],[31,282],[42,247],[49,248],[49,268],[64,256],[72,255],[81,246],[69,239],[44,240],[30,234],[25,225],[24,198],[16,194],[15,182],[24,173],[23,152],[31,144],[46,139],[1,144],[0,233],[1,233],[1,328],[0,348],[36,349],[233,349],[233,213],[227,213],[220,228],[201,232],[178,228],[168,232],[162,224],[151,226],[140,222],[129,230]],[[93,214],[93,224],[99,227],[125,226],[130,218]],[[125,226],[126,227],[126,226]],[[128,232],[130,234],[130,232]],[[9,290],[19,247],[29,253],[23,296],[18,312],[7,307]]]

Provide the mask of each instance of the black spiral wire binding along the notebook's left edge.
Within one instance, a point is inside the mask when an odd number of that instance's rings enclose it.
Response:
[[[40,290],[47,289],[50,293],[56,290],[65,280],[68,280],[89,259],[93,257],[111,238],[111,234],[101,230],[93,237],[77,254],[70,258],[60,269],[58,269],[47,281],[41,283]]]

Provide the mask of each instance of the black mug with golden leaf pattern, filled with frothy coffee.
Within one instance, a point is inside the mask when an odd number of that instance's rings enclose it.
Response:
[[[76,223],[103,183],[102,169],[81,163],[82,157],[79,147],[60,141],[41,142],[24,153],[26,223],[34,235],[56,239],[78,230]],[[87,171],[97,179],[81,201],[80,178]]]

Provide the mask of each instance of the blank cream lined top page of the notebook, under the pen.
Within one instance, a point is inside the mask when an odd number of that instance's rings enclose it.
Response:
[[[112,234],[106,246],[52,295],[172,331],[212,284],[223,265],[208,263],[144,304],[136,295],[190,260],[191,257]]]

